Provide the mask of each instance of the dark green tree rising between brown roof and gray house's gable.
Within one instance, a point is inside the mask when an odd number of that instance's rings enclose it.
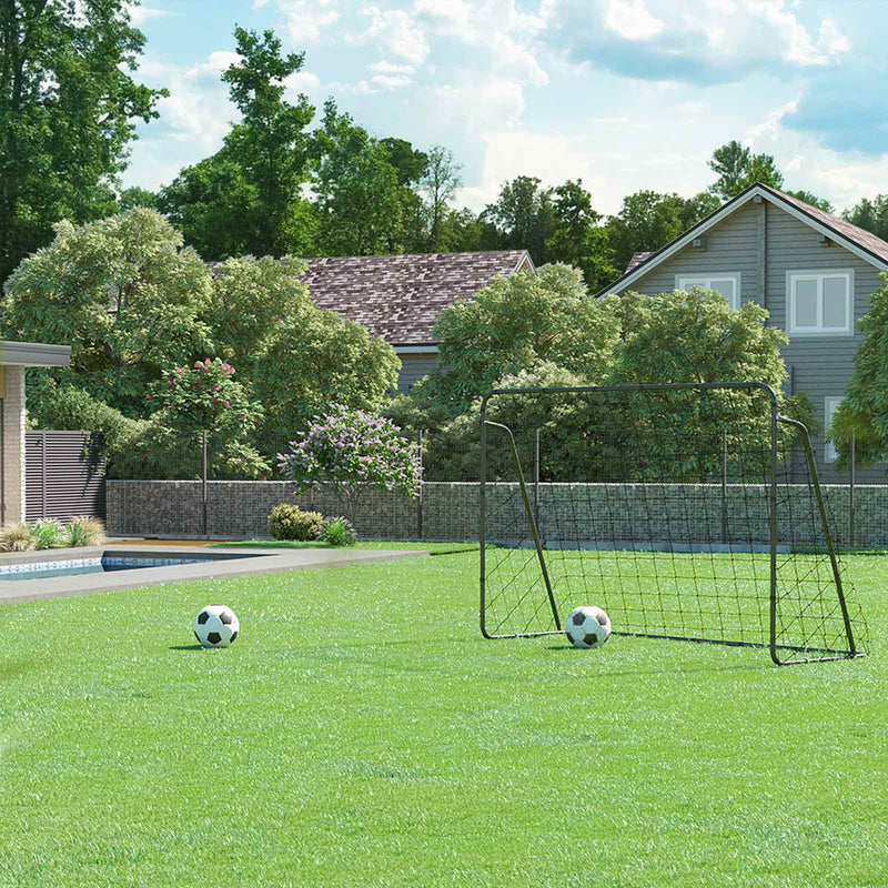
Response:
[[[598,224],[602,216],[592,209],[592,195],[582,179],[558,185],[554,198],[555,230],[546,249],[554,262],[579,269],[589,292],[596,293],[619,276],[607,232]]]

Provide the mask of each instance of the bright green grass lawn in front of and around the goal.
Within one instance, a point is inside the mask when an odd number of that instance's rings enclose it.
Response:
[[[476,553],[2,607],[0,886],[884,886],[884,565],[787,668],[485,642]]]

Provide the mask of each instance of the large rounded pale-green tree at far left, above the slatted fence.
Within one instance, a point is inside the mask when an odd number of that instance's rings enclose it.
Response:
[[[151,210],[74,228],[26,259],[7,282],[3,335],[71,345],[54,371],[127,416],[147,414],[144,392],[164,369],[210,349],[200,320],[211,275],[181,235]]]

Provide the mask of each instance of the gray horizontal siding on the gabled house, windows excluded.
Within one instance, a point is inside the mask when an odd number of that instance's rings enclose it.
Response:
[[[764,305],[770,315],[768,324],[786,330],[787,272],[854,272],[854,334],[795,336],[780,350],[790,371],[791,393],[805,392],[825,426],[826,398],[841,397],[854,374],[854,355],[864,340],[857,324],[868,311],[870,294],[880,285],[878,270],[835,242],[824,246],[817,231],[767,200],[747,202],[709,229],[705,238],[705,250],[687,245],[627,289],[656,295],[675,289],[678,274],[739,271],[743,301]],[[811,444],[820,480],[847,483],[847,473],[836,472],[826,462],[823,434]],[[861,484],[885,483],[886,466],[859,470],[857,478]]]

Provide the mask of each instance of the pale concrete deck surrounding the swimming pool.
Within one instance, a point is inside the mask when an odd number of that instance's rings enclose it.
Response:
[[[114,545],[110,549],[108,546],[82,546],[81,548],[3,553],[0,556],[0,567],[22,563],[49,565],[52,562],[72,558],[101,558],[104,554],[134,558],[195,558],[201,563],[38,579],[0,579],[0,605],[64,598],[71,595],[91,595],[97,592],[139,589],[167,583],[233,579],[242,576],[281,574],[286,571],[312,571],[323,567],[346,567],[353,564],[428,555],[425,551],[415,549],[289,548],[270,552],[244,546],[205,552],[194,546]]]

